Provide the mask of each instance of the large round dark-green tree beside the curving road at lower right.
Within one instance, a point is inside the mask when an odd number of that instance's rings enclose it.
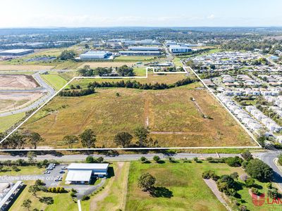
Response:
[[[259,181],[268,181],[273,174],[271,167],[259,159],[250,160],[245,171]]]

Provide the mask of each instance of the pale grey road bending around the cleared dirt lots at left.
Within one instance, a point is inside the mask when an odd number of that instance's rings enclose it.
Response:
[[[49,100],[49,98],[51,98],[56,93],[56,91],[52,87],[50,87],[49,84],[44,82],[44,80],[40,77],[39,72],[36,72],[32,76],[37,80],[37,82],[39,83],[40,87],[42,87],[44,89],[44,91],[47,92],[47,94],[45,94],[44,96],[39,98],[37,101],[31,103],[30,106],[26,106],[25,108],[20,108],[18,110],[13,110],[13,111],[5,112],[5,113],[0,113],[0,117],[6,117],[8,115],[13,115],[13,114],[17,114],[17,113],[23,113],[23,112],[27,112],[27,111],[33,110],[33,109],[39,107],[40,105],[42,105],[42,103],[44,103],[45,101]],[[13,90],[13,91],[10,91],[10,92],[16,92],[16,90]]]

